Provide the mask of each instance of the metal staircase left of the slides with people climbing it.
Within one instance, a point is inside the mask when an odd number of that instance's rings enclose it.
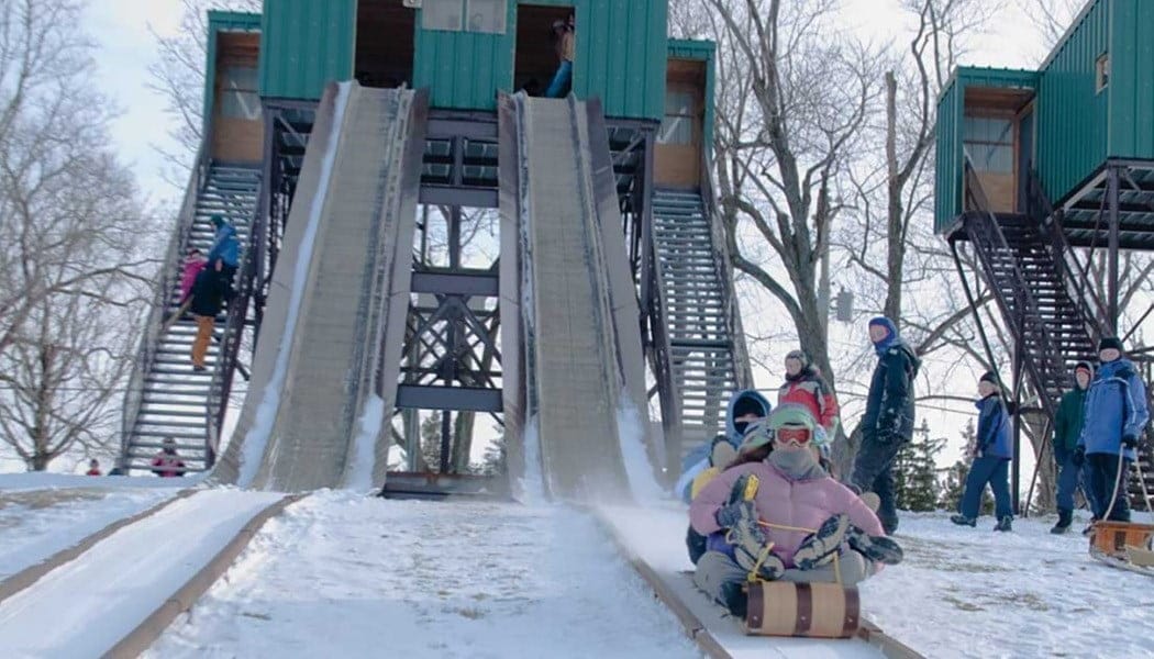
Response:
[[[223,415],[216,398],[227,396],[222,390],[222,381],[228,379],[231,382],[231,368],[226,368],[222,359],[220,343],[222,337],[239,334],[247,313],[250,286],[243,280],[243,274],[250,270],[247,268],[247,256],[252,252],[248,244],[258,188],[260,170],[225,165],[202,166],[189,182],[126,396],[119,465],[125,473],[150,470],[166,437],[174,440],[186,472],[204,471],[215,462],[218,417]],[[177,320],[166,331],[162,331],[162,327],[180,306],[185,254],[195,247],[207,255],[212,246],[211,217],[215,215],[237,227],[243,249],[234,284],[238,293],[231,308],[217,317],[208,369],[196,373],[190,362],[196,335],[192,317],[186,315]],[[239,317],[230,319],[230,312]],[[235,351],[232,352],[234,358]]]

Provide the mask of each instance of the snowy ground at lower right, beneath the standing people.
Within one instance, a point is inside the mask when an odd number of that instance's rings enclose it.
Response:
[[[868,616],[927,657],[1154,656],[1154,579],[1091,559],[1080,533],[1051,536],[1054,519],[995,533],[989,517],[902,514],[906,561],[862,585]]]

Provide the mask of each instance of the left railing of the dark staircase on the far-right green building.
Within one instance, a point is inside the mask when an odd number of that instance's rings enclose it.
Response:
[[[1057,413],[1057,405],[1048,389],[1051,385],[1061,388],[1066,383],[1065,366],[1062,365],[1055,368],[1054,355],[1059,354],[1057,344],[1050,336],[1046,323],[1041,320],[1040,306],[1027,286],[1027,279],[1018,265],[1017,257],[1012,261],[1013,277],[1016,279],[1013,283],[1012,308],[1011,300],[1005,299],[1001,286],[997,285],[999,275],[991,256],[995,253],[1013,255],[1013,247],[1010,246],[1005,234],[1002,232],[1002,226],[998,224],[997,217],[990,210],[986,193],[969,158],[966,158],[965,177],[967,208],[976,211],[967,214],[967,216],[971,219],[980,218],[980,220],[967,222],[967,231],[974,245],[980,247],[976,249],[979,260],[986,269],[990,287],[995,292],[995,299],[998,301],[998,306],[1002,307],[1003,315],[1010,321],[1011,334],[1025,349],[1022,350],[1022,357],[1025,357],[1026,370],[1034,381],[1042,407],[1047,415],[1052,419]],[[1034,342],[1033,346],[1027,345],[1027,338]]]

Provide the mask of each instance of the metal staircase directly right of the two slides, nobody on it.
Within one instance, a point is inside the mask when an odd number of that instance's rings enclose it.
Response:
[[[702,195],[657,189],[652,217],[660,319],[651,322],[660,322],[667,343],[681,429],[680,455],[672,457],[680,459],[724,429],[729,396],[751,379],[724,239]],[[668,414],[669,405],[662,407]]]

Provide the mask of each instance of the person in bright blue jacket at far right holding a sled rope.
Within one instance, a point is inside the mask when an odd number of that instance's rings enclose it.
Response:
[[[1126,475],[1149,420],[1146,384],[1117,337],[1103,338],[1097,357],[1101,365],[1086,392],[1086,420],[1074,460],[1086,466],[1094,518],[1130,522]]]

